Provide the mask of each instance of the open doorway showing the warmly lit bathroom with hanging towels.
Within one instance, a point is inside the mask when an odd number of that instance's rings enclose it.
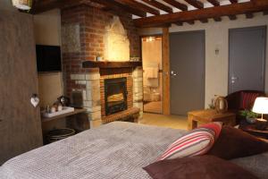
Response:
[[[163,114],[162,37],[141,38],[144,112]]]

